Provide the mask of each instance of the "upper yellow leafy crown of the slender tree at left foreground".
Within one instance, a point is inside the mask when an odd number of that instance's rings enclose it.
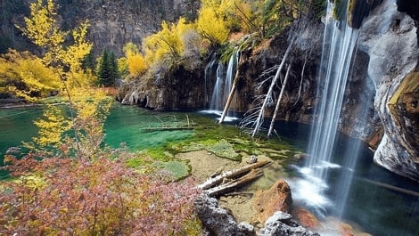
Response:
[[[46,66],[52,66],[62,81],[68,82],[66,89],[73,85],[87,85],[90,81],[84,81],[79,74],[82,61],[92,49],[92,44],[86,41],[88,22],[81,23],[78,28],[70,31],[62,31],[57,20],[56,6],[53,0],[37,0],[30,4],[30,16],[25,18],[25,27],[21,29],[24,35],[32,42],[43,48],[45,52],[42,59]],[[65,42],[69,37],[71,44]],[[78,74],[78,75],[77,75]],[[77,81],[69,79],[78,78]]]

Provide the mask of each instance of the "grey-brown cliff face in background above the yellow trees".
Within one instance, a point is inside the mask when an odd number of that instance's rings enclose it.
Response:
[[[29,15],[29,3],[34,0],[3,1],[0,7],[0,52],[8,47],[34,51],[34,46],[21,36],[15,24],[21,25]],[[74,28],[81,20],[89,20],[88,40],[94,42],[94,54],[103,49],[116,56],[128,42],[141,45],[142,38],[156,32],[161,20],[174,21],[180,15],[193,17],[198,1],[187,0],[56,0],[62,28]]]

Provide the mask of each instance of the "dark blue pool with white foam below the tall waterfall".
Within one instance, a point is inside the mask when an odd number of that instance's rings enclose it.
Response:
[[[310,126],[278,122],[276,127],[301,146],[308,142]],[[348,167],[341,157],[352,153],[356,145],[357,161]],[[419,183],[375,165],[373,157],[365,143],[340,135],[332,161],[322,165],[329,171],[325,182],[313,179],[302,163],[293,167],[298,175],[288,182],[294,204],[311,209],[325,221],[341,218],[372,235],[419,235]],[[336,235],[327,231],[321,234]]]

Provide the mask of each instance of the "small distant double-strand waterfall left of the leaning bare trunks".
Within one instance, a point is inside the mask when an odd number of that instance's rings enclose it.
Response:
[[[226,104],[228,94],[233,85],[234,76],[237,69],[239,60],[239,50],[234,48],[234,52],[231,54],[228,61],[226,76],[224,75],[224,66],[222,63],[218,64],[217,69],[217,80],[212,91],[211,102],[209,104],[209,110],[223,110]]]

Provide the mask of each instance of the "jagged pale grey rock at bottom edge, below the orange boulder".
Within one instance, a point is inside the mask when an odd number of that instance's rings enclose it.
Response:
[[[316,232],[310,232],[292,220],[290,214],[277,211],[274,216],[270,216],[265,223],[265,227],[260,229],[261,236],[320,236]]]

